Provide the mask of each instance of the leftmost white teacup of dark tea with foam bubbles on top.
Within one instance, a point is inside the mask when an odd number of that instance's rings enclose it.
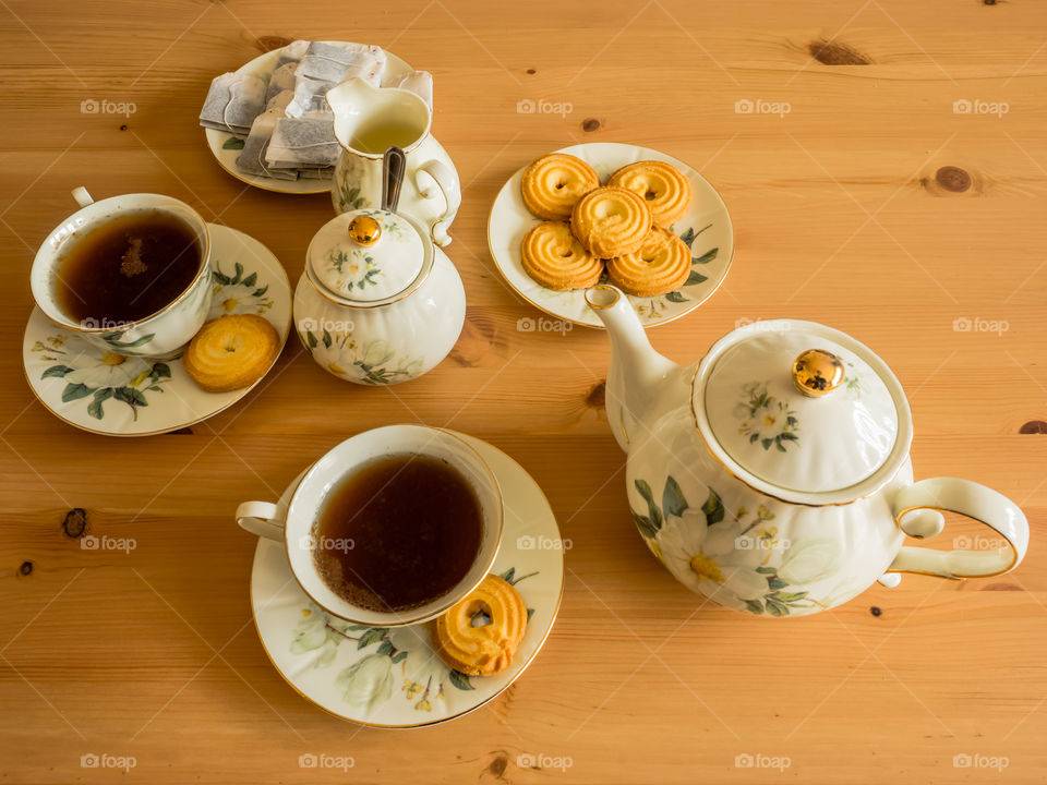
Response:
[[[48,235],[33,297],[60,327],[118,354],[164,358],[201,328],[210,306],[210,237],[189,205],[160,194],[94,202]]]

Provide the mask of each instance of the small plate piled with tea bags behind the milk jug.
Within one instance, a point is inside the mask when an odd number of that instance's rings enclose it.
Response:
[[[414,73],[381,47],[299,40],[215,77],[200,124],[218,164],[238,180],[279,193],[325,193],[340,150],[327,90],[351,77],[399,86]]]

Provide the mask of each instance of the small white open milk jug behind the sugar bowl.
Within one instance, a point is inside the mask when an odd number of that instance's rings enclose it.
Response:
[[[341,145],[330,189],[335,212],[378,206],[382,156],[397,145],[407,154],[398,212],[425,226],[437,245],[449,244],[447,230],[461,204],[461,183],[447,150],[430,133],[429,105],[410,90],[372,87],[361,78],[328,92],[327,104]]]

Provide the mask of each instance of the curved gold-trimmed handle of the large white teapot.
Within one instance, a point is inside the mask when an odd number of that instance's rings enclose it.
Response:
[[[1028,548],[1028,521],[1018,505],[985,485],[959,478],[920,480],[899,491],[891,502],[894,521],[910,530],[902,519],[918,510],[948,510],[974,518],[999,534],[1006,544],[998,547],[953,551],[903,546],[888,572],[916,572],[959,580],[987,578],[1012,570]],[[912,520],[912,519],[911,519]],[[932,527],[934,528],[934,527]],[[937,533],[931,532],[931,533]],[[970,538],[956,538],[955,544]],[[975,543],[977,542],[975,539]],[[974,544],[974,543],[971,543]]]

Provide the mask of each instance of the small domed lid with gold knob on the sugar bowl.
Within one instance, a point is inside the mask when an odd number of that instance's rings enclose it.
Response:
[[[414,222],[381,209],[342,213],[309,244],[306,269],[332,294],[376,305],[411,286],[433,250]]]

